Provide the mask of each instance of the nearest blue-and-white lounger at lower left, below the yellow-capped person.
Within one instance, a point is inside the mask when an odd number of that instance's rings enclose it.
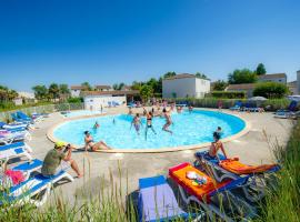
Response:
[[[34,175],[10,188],[8,193],[2,192],[0,205],[20,206],[30,203],[36,206],[41,206],[47,201],[52,185],[63,179],[71,182],[73,181],[73,178],[64,171],[59,172],[52,178],[46,178],[42,174]],[[36,195],[40,195],[38,200],[32,199]]]

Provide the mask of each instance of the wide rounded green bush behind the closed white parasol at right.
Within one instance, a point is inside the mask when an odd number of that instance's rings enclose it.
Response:
[[[254,97],[264,97],[269,99],[283,98],[288,94],[289,89],[286,84],[279,82],[261,82],[253,90]]]

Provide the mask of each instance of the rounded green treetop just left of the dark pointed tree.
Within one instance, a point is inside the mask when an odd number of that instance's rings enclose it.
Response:
[[[230,84],[254,83],[257,80],[258,77],[256,72],[252,72],[249,69],[237,69],[233,71],[233,73],[229,73],[228,75],[228,82]]]

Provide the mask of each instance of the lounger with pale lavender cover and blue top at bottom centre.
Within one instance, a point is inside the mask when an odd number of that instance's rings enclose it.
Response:
[[[174,193],[163,175],[142,178],[139,180],[139,188],[140,222],[194,218],[194,214],[189,214],[179,208]],[[202,215],[198,218],[200,216]]]

